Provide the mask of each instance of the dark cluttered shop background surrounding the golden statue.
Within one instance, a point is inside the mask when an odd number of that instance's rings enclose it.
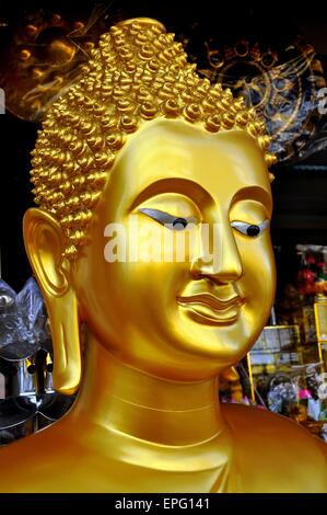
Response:
[[[52,423],[74,400],[51,386],[47,316],[22,239],[33,205],[30,152],[51,101],[79,77],[100,35],[135,16],[161,20],[203,77],[243,94],[279,159],[275,307],[219,394],[290,416],[327,442],[327,16],[297,3],[1,3],[0,445]]]

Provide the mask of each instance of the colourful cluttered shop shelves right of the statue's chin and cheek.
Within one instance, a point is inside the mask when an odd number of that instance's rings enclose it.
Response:
[[[242,365],[240,401],[289,416],[327,440],[327,247],[297,244],[294,255],[296,281],[277,295],[270,323]]]

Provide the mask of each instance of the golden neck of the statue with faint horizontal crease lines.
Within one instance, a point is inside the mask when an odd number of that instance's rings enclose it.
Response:
[[[113,358],[92,335],[74,411],[153,444],[196,445],[224,430],[215,379],[176,382],[142,374]]]

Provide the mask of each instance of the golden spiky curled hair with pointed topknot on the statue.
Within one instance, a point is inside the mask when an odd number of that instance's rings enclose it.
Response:
[[[32,152],[35,203],[60,224],[68,259],[85,241],[126,137],[159,116],[201,124],[210,133],[245,129],[268,167],[276,160],[255,111],[201,79],[174,34],[155,20],[119,23],[101,37],[79,81],[54,103]]]

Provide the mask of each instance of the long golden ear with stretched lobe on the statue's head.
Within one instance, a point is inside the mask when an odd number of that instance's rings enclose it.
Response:
[[[23,221],[25,249],[48,310],[54,345],[54,388],[77,391],[81,378],[81,350],[71,264],[62,258],[63,233],[48,213],[28,209]]]

